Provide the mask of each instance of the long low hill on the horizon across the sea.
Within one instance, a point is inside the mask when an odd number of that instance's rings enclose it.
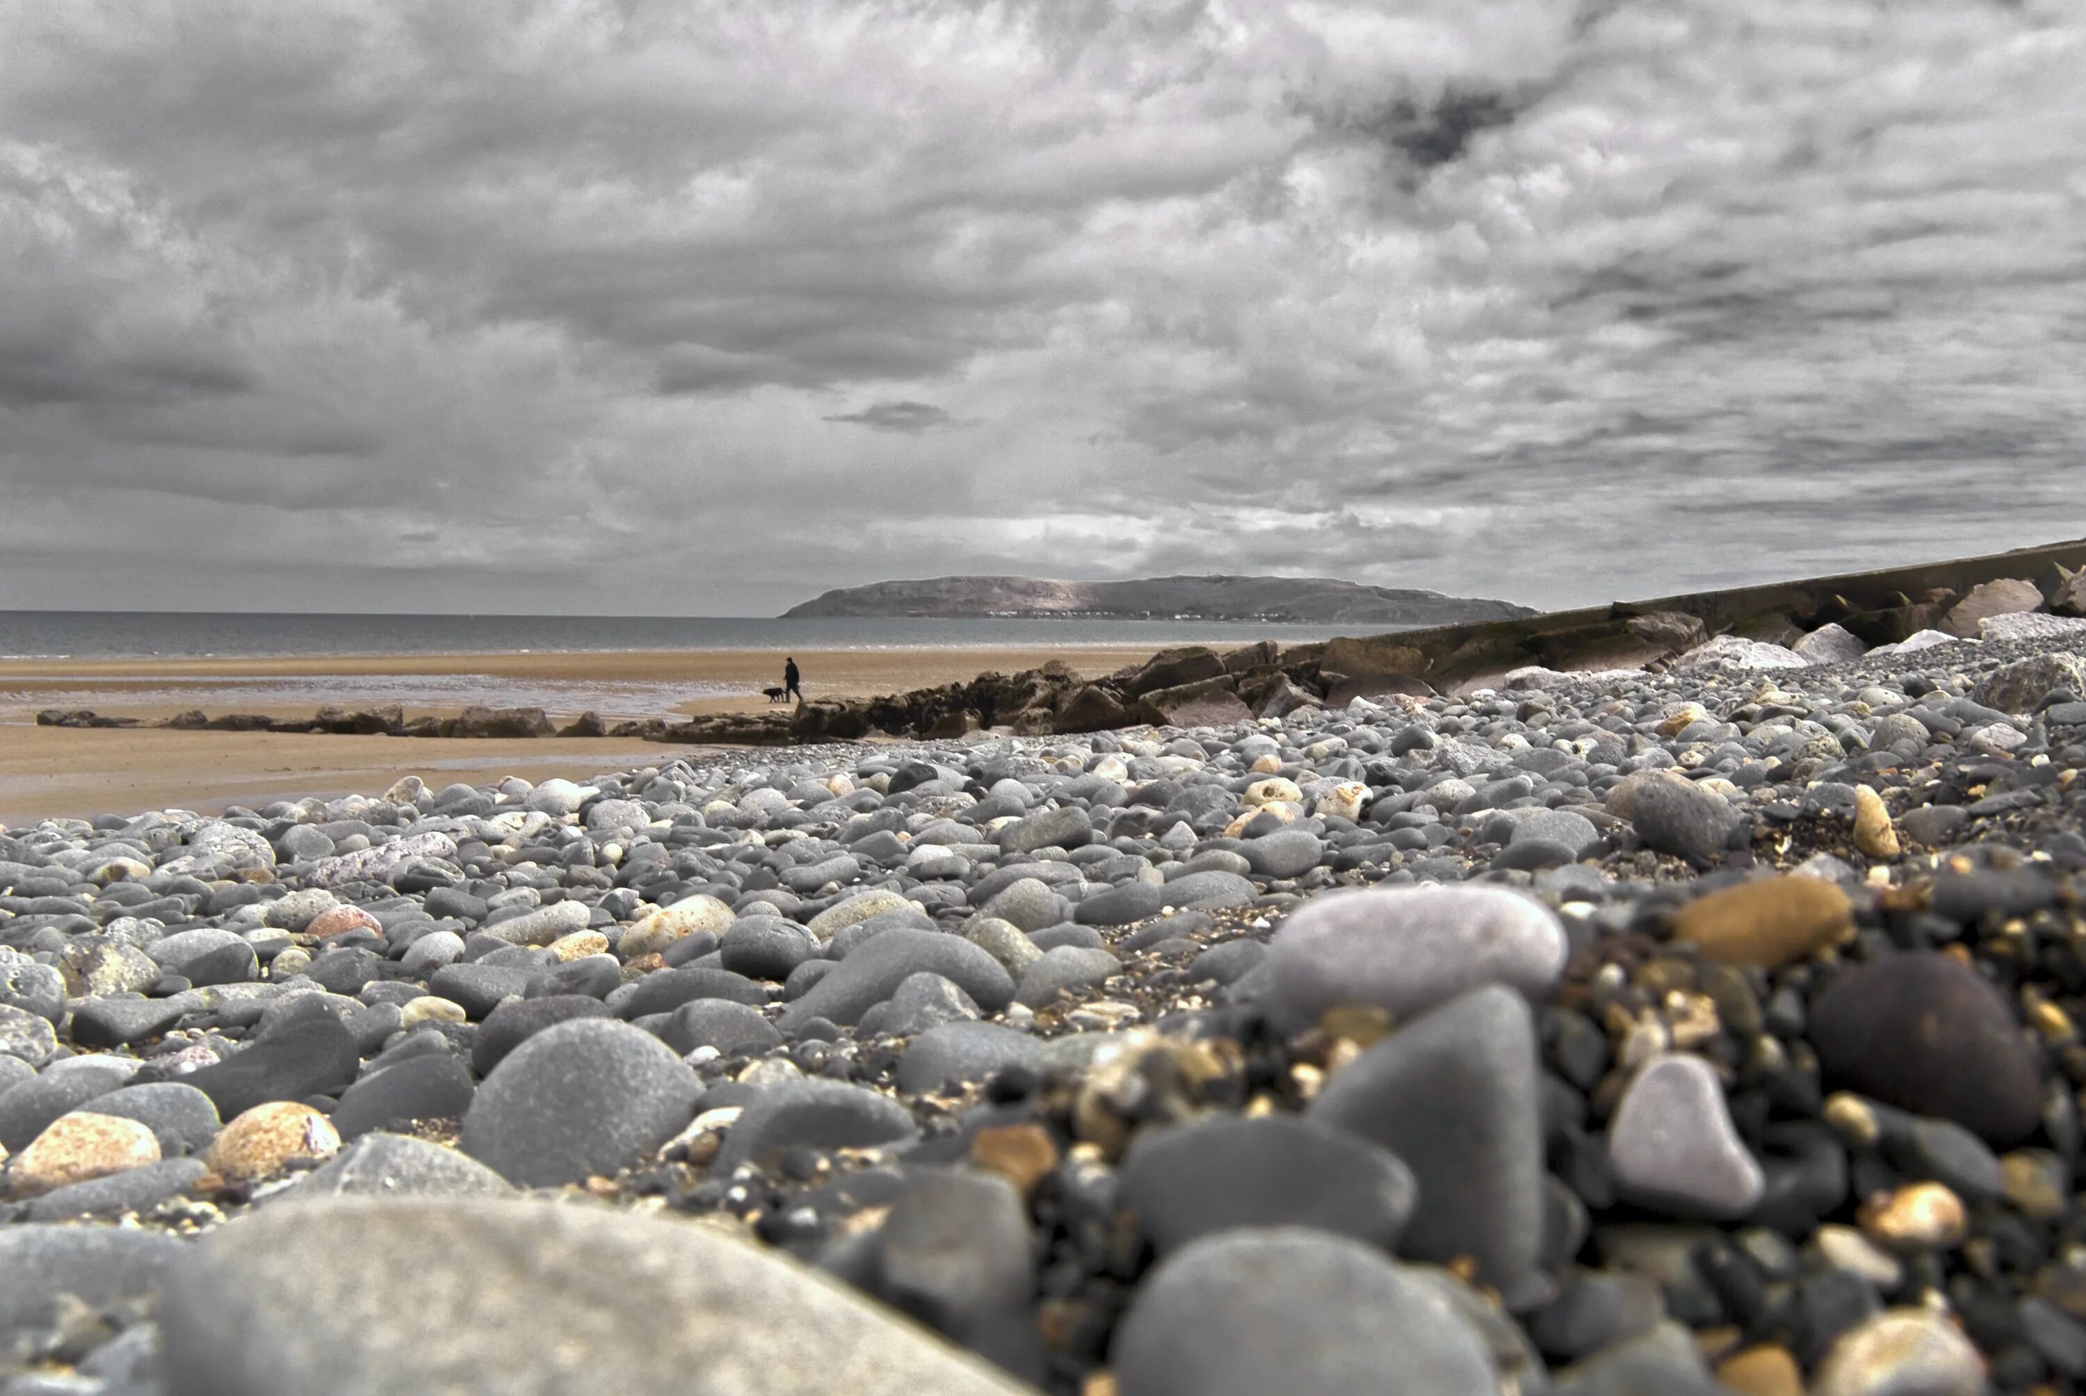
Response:
[[[1510,601],[1362,586],[1323,576],[1154,576],[1060,582],[1041,576],[937,576],[841,586],[782,611],[805,616],[1039,616],[1103,620],[1266,620],[1291,624],[1454,626],[1533,616]]]

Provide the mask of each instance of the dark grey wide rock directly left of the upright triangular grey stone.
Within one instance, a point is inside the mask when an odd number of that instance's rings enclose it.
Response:
[[[1220,1116],[1139,1135],[1120,1200],[1162,1256],[1235,1227],[1316,1227],[1391,1250],[1416,1187],[1396,1154],[1345,1131]]]

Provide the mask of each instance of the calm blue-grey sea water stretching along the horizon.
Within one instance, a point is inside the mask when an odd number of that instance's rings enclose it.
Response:
[[[0,659],[451,655],[628,649],[983,649],[1323,641],[1389,626],[1204,620],[763,620],[741,616],[305,616],[0,611]]]

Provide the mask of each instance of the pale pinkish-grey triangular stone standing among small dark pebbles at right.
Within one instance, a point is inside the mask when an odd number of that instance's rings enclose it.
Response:
[[[1685,1054],[1652,1058],[1623,1091],[1608,1121],[1608,1166],[1623,1198],[1679,1217],[1744,1217],[1767,1185],[1717,1073]]]

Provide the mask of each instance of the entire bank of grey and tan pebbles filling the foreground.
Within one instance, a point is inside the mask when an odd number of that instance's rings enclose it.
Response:
[[[8,822],[0,1394],[2076,1390],[1978,636]]]

